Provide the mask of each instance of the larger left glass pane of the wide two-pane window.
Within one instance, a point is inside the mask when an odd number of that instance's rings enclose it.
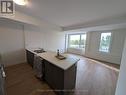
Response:
[[[69,47],[79,48],[80,35],[69,35]]]

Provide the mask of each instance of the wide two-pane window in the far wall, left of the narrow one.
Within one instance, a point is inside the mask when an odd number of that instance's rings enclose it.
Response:
[[[70,34],[68,37],[69,48],[85,48],[86,34]]]

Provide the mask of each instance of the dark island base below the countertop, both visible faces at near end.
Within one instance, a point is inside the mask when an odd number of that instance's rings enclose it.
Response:
[[[58,95],[68,95],[67,91],[73,90],[76,83],[76,64],[67,70],[63,70],[44,60],[44,80]]]

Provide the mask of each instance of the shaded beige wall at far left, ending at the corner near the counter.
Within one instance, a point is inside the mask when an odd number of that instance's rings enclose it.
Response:
[[[25,62],[23,25],[0,20],[0,53],[5,65]]]

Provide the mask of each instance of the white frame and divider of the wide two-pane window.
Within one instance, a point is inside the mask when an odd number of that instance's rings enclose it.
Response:
[[[72,47],[70,47],[70,36],[71,35],[79,35],[80,36],[79,48],[72,48]],[[87,40],[87,33],[68,34],[68,45],[67,45],[67,48],[72,48],[72,49],[85,49],[85,48],[80,48],[80,45],[81,45],[81,35],[86,35],[86,40]]]

